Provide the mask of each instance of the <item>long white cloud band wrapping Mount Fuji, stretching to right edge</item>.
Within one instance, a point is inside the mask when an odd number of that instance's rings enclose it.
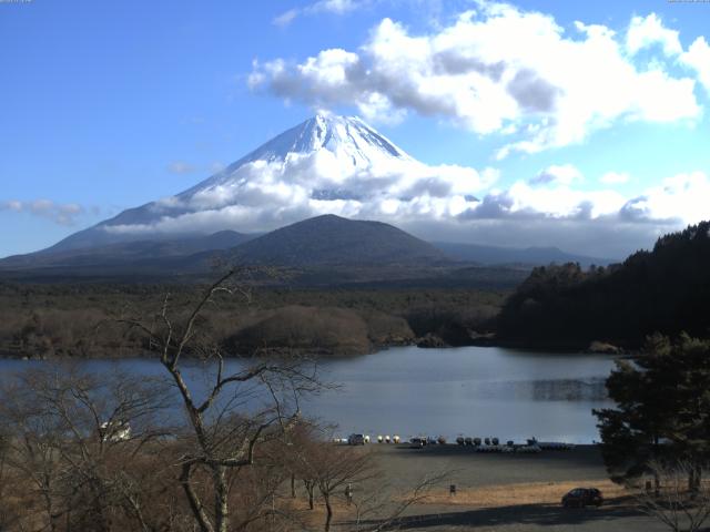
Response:
[[[558,245],[621,257],[668,231],[710,217],[710,178],[681,173],[629,196],[604,185],[628,176],[608,172],[601,186],[572,165],[552,165],[541,183],[496,187],[499,172],[429,166],[405,157],[354,166],[327,150],[285,163],[246,164],[222,184],[153,205],[150,223],[113,233],[264,232],[320,214],[377,219],[432,239],[500,245]],[[544,186],[540,186],[544,185]],[[12,208],[7,206],[6,208]]]

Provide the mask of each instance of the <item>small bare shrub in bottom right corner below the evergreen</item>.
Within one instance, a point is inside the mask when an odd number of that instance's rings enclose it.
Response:
[[[681,460],[670,464],[651,462],[649,469],[657,488],[637,495],[639,508],[673,532],[699,531],[710,518],[710,482],[698,480],[689,487],[688,479],[700,479],[704,468]]]

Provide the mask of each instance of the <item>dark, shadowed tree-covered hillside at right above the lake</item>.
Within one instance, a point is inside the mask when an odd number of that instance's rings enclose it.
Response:
[[[585,348],[642,345],[652,332],[710,336],[710,222],[660,237],[623,264],[538,267],[506,301],[504,342]]]

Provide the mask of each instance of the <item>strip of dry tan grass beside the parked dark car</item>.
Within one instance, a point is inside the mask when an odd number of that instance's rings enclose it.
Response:
[[[565,493],[575,488],[597,488],[606,501],[629,495],[630,492],[610,480],[574,480],[565,482],[526,482],[458,489],[450,495],[448,489],[436,490],[422,504],[466,505],[473,508],[501,508],[520,504],[559,504]]]

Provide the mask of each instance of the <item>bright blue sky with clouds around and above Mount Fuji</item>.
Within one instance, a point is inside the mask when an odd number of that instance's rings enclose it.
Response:
[[[474,192],[500,216],[456,212],[457,238],[619,256],[710,217],[708,22],[710,4],[668,1],[1,2],[0,256],[185,190],[324,108],[427,165],[495,172]],[[433,86],[409,40],[505,64],[505,90],[470,70]]]

